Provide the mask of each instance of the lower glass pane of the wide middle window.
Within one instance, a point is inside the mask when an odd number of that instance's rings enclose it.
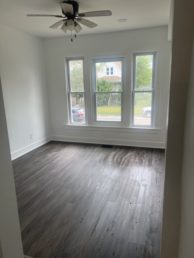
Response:
[[[97,121],[121,121],[121,93],[96,93]]]

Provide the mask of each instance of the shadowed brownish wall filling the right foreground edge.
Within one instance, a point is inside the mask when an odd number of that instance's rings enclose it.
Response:
[[[161,258],[194,257],[193,12],[193,1],[174,0]]]

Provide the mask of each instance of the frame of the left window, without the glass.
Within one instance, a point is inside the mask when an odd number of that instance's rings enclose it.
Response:
[[[84,91],[71,91],[71,82],[70,82],[70,67],[69,61],[82,60],[83,63],[83,83],[84,83]],[[67,91],[68,91],[68,117],[70,125],[87,125],[87,108],[86,108],[86,98],[85,98],[85,73],[84,73],[84,57],[69,57],[65,58],[66,61],[66,77],[67,77]],[[85,110],[85,123],[73,122],[72,111],[71,111],[71,94],[83,94],[84,95],[84,110]]]

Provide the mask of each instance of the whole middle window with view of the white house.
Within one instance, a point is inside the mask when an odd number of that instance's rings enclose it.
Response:
[[[122,121],[122,61],[123,58],[93,60],[95,121]],[[113,74],[109,65],[115,62],[120,63],[117,76],[102,76],[103,71]]]

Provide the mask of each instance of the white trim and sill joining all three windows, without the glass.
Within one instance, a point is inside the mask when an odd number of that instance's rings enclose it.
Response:
[[[153,75],[153,93],[152,93],[152,124],[151,126],[134,125],[134,55],[147,55],[155,54]],[[126,52],[115,54],[101,54],[101,55],[86,55],[86,56],[66,56],[65,57],[65,74],[66,74],[66,90],[65,96],[67,100],[66,112],[67,122],[65,122],[66,129],[82,129],[82,130],[107,130],[107,131],[123,131],[123,132],[146,132],[146,133],[159,133],[159,91],[155,89],[156,84],[156,54],[161,57],[159,51],[141,51],[141,52]],[[72,123],[71,122],[71,100],[70,94],[75,92],[70,91],[69,83],[69,67],[68,60],[82,60],[83,62],[83,78],[84,78],[84,92],[76,92],[84,94],[85,102],[85,123]],[[121,121],[98,121],[96,120],[96,102],[95,102],[95,69],[93,61],[97,62],[106,60],[122,60],[122,104],[121,104]],[[157,62],[156,62],[157,61]],[[160,64],[160,63],[159,63]],[[157,64],[157,67],[159,65]],[[108,76],[107,76],[108,77]],[[157,82],[158,83],[158,82]],[[140,92],[140,91],[138,91]],[[157,105],[156,102],[157,101]],[[86,106],[87,105],[87,106]]]

